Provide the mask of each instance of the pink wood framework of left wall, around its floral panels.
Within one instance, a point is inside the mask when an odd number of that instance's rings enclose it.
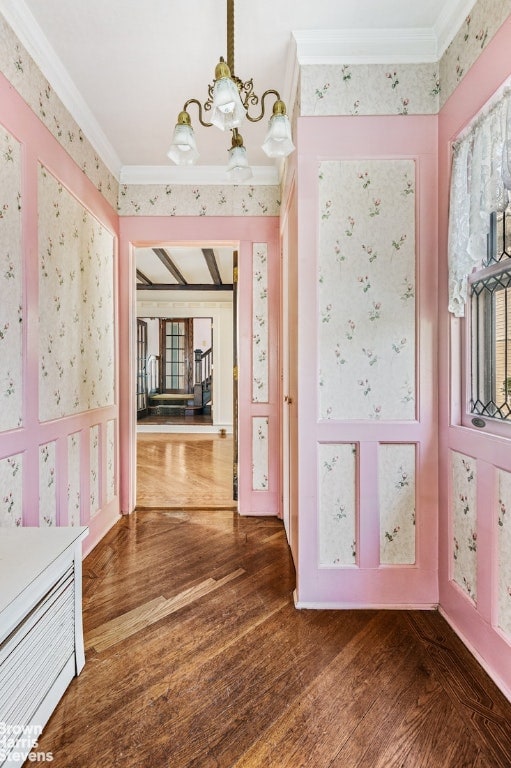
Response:
[[[38,164],[43,164],[83,206],[113,235],[117,236],[118,217],[80,168],[70,159],[50,132],[0,75],[0,122],[22,146],[22,259],[24,272],[23,334],[23,426],[0,434],[0,458],[23,455],[23,524],[39,524],[39,447],[56,444],[57,524],[67,524],[67,438],[80,433],[82,439],[81,510],[83,525],[90,534],[84,542],[88,552],[118,519],[118,494],[106,502],[105,471],[106,424],[117,424],[115,404],[53,421],[39,421],[39,258],[38,258]],[[91,372],[95,375],[95,372]],[[88,445],[89,429],[100,430],[100,508],[90,519]],[[116,430],[117,434],[117,430]],[[116,438],[116,454],[118,441]],[[118,473],[116,472],[116,477]]]

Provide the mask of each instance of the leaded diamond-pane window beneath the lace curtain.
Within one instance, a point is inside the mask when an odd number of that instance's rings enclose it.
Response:
[[[511,206],[490,215],[487,255],[469,297],[470,412],[511,422]]]

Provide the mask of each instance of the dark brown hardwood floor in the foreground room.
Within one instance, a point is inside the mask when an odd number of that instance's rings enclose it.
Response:
[[[509,768],[507,702],[435,612],[294,608],[275,518],[153,510],[84,562],[55,768]]]

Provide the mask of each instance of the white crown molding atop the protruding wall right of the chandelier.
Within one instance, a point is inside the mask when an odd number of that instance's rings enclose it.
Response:
[[[293,37],[300,65],[438,61],[432,29],[318,29],[293,32]]]

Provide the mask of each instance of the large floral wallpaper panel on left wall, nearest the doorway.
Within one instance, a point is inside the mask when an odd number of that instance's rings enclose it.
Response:
[[[39,169],[39,415],[114,401],[114,238]]]

